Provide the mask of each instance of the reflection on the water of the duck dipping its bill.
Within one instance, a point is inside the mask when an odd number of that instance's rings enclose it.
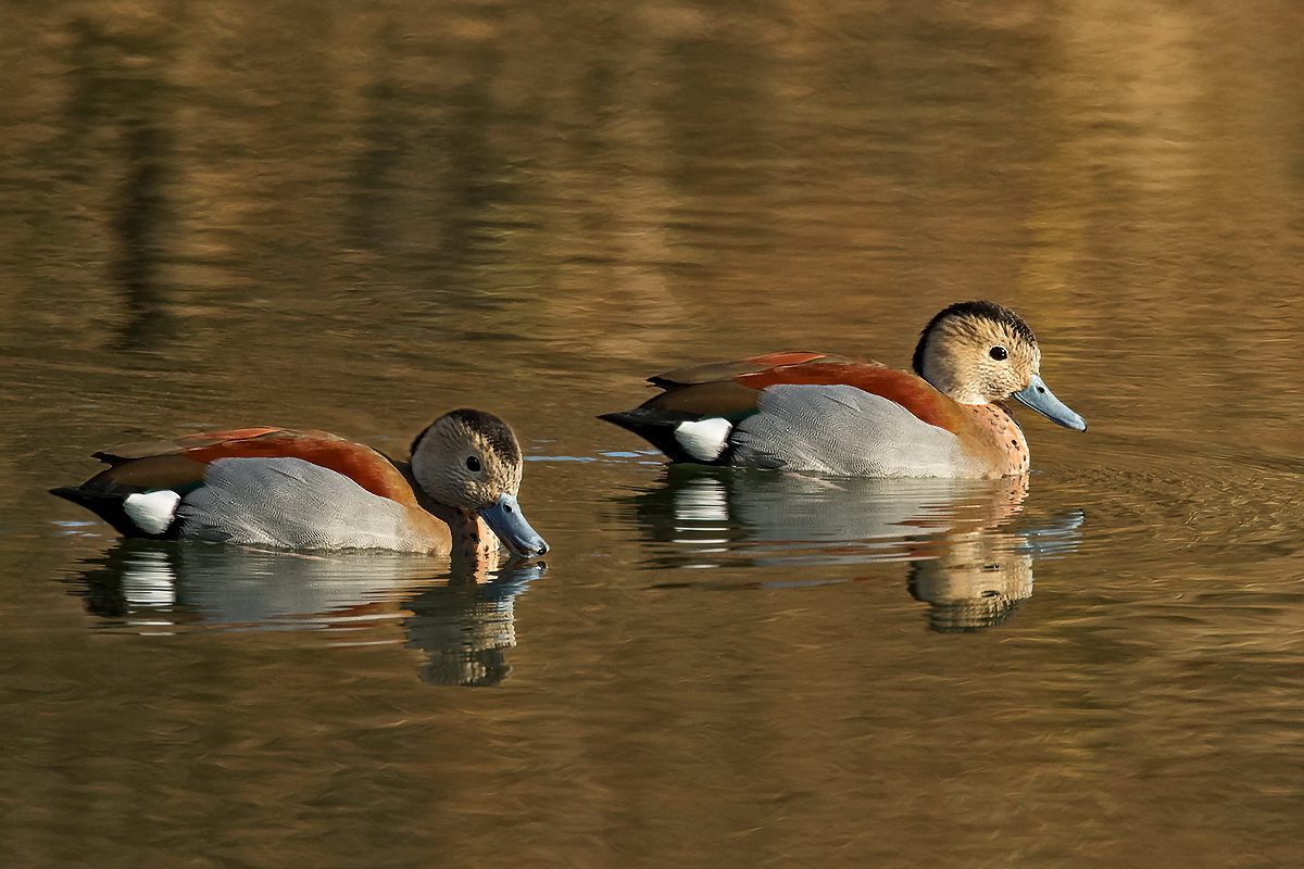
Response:
[[[314,555],[126,539],[85,559],[73,586],[89,612],[149,633],[342,633],[399,619],[403,645],[424,655],[424,681],[501,683],[516,645],[515,598],[546,567],[468,565],[432,576],[433,567],[398,552]]]

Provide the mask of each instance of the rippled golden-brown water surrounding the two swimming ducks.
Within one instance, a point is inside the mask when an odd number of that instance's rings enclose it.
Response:
[[[1304,860],[1288,3],[10,4],[5,865]],[[996,485],[666,469],[642,378],[991,298]],[[121,543],[98,447],[511,420],[546,567]]]

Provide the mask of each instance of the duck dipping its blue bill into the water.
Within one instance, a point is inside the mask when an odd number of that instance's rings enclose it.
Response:
[[[327,431],[279,427],[188,434],[93,457],[110,466],[50,491],[124,537],[477,560],[496,555],[497,541],[522,558],[548,551],[518,502],[516,435],[484,410],[438,417],[406,463]]]

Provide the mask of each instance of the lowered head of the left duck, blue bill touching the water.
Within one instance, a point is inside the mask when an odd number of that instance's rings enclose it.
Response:
[[[511,427],[484,410],[450,410],[412,442],[412,476],[441,504],[479,513],[515,555],[542,555],[520,491],[520,446]]]

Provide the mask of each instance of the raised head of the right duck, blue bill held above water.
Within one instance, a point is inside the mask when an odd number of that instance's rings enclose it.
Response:
[[[1086,421],[1047,388],[1042,352],[1018,314],[992,302],[958,302],[934,317],[914,348],[914,373],[960,404],[1016,399],[1065,429]]]

